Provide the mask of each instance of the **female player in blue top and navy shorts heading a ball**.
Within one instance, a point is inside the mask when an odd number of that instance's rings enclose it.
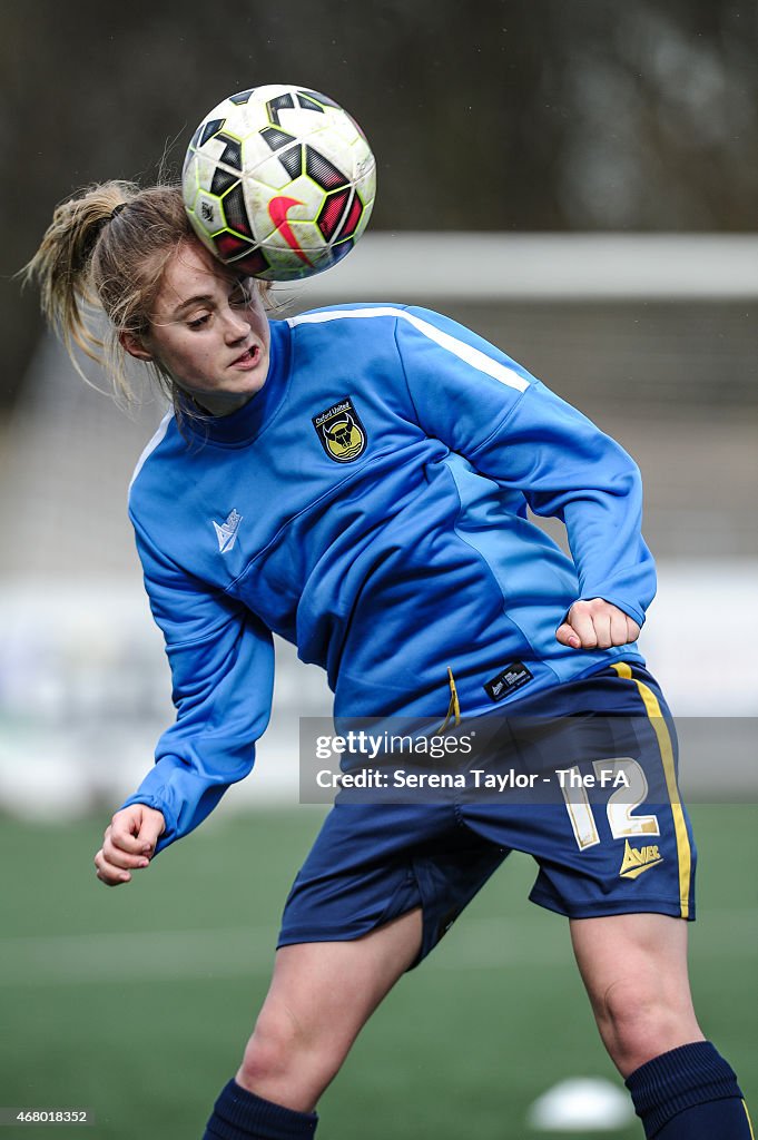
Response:
[[[28,275],[70,349],[121,388],[127,356],[144,361],[173,402],[130,514],[178,716],[105,832],[103,882],[129,882],[250,772],[272,632],[326,668],[348,723],[460,732],[507,714],[498,763],[610,765],[634,791],[635,814],[581,793],[337,803],[206,1140],[311,1135],[366,1019],[513,848],[539,865],[531,897],[569,918],[646,1135],[748,1140],[734,1073],[690,997],[694,849],[670,718],[635,646],[654,571],[629,457],[439,315],[381,304],[269,319],[261,286],[193,236],[174,188],[111,182],[65,203]],[[105,345],[84,302],[108,318]],[[570,559],[528,507],[563,520]],[[531,739],[508,728],[527,716],[543,726]]]

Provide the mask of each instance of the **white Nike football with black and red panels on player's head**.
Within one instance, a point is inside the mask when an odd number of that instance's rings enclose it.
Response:
[[[280,83],[233,95],[199,124],[182,172],[201,241],[266,280],[328,269],[368,225],[376,163],[347,111]]]

